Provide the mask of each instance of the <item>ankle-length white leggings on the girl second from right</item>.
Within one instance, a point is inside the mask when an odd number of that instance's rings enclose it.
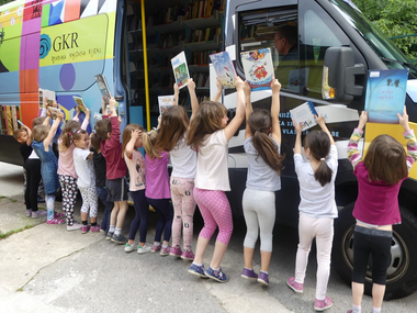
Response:
[[[313,238],[317,246],[316,299],[325,300],[327,283],[330,276],[330,254],[333,245],[334,219],[315,219],[300,214],[298,236],[300,244],[295,260],[295,281],[304,283],[305,270],[308,264],[308,254]]]

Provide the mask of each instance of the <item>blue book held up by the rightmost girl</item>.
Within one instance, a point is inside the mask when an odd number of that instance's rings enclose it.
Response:
[[[398,123],[403,114],[408,69],[370,70],[367,82],[365,111],[371,123]]]

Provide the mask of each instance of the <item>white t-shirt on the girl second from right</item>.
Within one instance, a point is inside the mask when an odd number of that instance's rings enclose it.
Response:
[[[337,217],[337,206],[335,201],[335,179],[337,174],[337,148],[330,146],[330,153],[326,158],[327,166],[331,169],[331,181],[322,186],[314,178],[314,170],[309,160],[305,161],[301,154],[294,154],[295,172],[300,183],[298,205],[300,213],[307,216],[318,217]]]

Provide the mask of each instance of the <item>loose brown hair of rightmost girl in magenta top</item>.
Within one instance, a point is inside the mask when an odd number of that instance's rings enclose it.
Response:
[[[407,177],[407,154],[390,135],[379,135],[368,148],[363,160],[370,180],[396,185]]]

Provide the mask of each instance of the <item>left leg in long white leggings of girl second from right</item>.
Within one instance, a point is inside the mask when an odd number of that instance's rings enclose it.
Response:
[[[316,219],[300,214],[298,222],[298,248],[295,258],[295,282],[304,283],[305,271],[308,264],[308,254],[315,236],[314,223]]]

